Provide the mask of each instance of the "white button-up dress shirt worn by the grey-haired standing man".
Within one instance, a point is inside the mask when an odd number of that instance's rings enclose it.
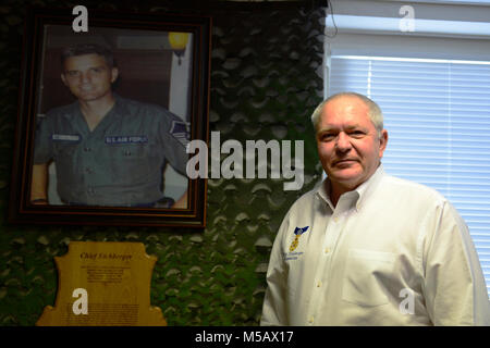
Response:
[[[336,207],[329,190],[284,217],[261,325],[490,325],[475,247],[443,196],[381,165]]]

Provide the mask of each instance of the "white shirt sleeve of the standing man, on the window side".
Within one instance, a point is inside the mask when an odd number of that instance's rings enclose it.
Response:
[[[468,228],[448,201],[428,222],[425,297],[434,325],[490,325],[490,302]]]

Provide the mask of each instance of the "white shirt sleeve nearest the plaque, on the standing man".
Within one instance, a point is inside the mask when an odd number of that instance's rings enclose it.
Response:
[[[272,246],[267,270],[267,290],[262,306],[261,326],[285,326],[287,320],[287,269],[282,256],[282,239],[287,231],[290,213],[284,217]]]

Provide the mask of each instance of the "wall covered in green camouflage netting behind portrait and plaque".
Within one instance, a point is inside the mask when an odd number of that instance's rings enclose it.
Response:
[[[29,3],[2,3],[0,325],[34,325],[42,308],[54,303],[53,257],[64,254],[71,240],[144,243],[147,252],[158,257],[151,302],[162,309],[169,325],[258,324],[277,229],[291,203],[320,177],[309,115],[322,96],[317,72],[321,73],[323,11],[259,4],[195,10],[213,16],[210,129],[221,132],[221,141],[305,140],[305,185],[284,191],[282,179],[209,179],[208,225],[204,231],[186,231],[7,223],[23,11]],[[152,9],[140,2],[127,8],[112,3],[83,2],[89,11]],[[158,3],[156,11],[164,11],[166,2]]]

